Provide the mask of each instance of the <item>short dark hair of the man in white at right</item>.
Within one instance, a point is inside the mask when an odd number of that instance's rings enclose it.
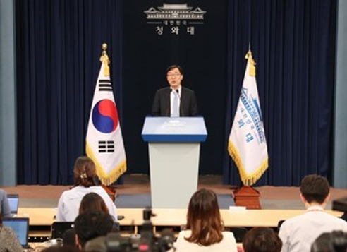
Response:
[[[300,193],[308,203],[324,203],[329,191],[330,186],[327,179],[317,174],[305,176],[300,183]]]

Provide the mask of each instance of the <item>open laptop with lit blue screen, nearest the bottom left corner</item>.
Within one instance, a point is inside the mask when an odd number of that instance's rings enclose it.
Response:
[[[23,248],[32,249],[28,244],[29,218],[8,218],[4,219],[2,224],[13,229]]]

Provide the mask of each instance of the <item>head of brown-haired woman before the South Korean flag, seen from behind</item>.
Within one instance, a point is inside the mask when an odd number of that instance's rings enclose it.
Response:
[[[73,167],[73,174],[75,176],[75,186],[95,186],[95,178],[97,177],[95,163],[89,157],[77,158]]]

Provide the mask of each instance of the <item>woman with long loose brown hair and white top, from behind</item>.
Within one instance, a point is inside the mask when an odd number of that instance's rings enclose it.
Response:
[[[223,232],[217,196],[211,190],[200,189],[190,198],[186,229],[178,236],[178,252],[237,251],[233,233]]]

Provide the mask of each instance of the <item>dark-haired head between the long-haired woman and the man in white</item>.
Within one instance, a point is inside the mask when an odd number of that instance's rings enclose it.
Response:
[[[282,241],[274,229],[269,227],[253,227],[243,237],[244,252],[280,252]]]

